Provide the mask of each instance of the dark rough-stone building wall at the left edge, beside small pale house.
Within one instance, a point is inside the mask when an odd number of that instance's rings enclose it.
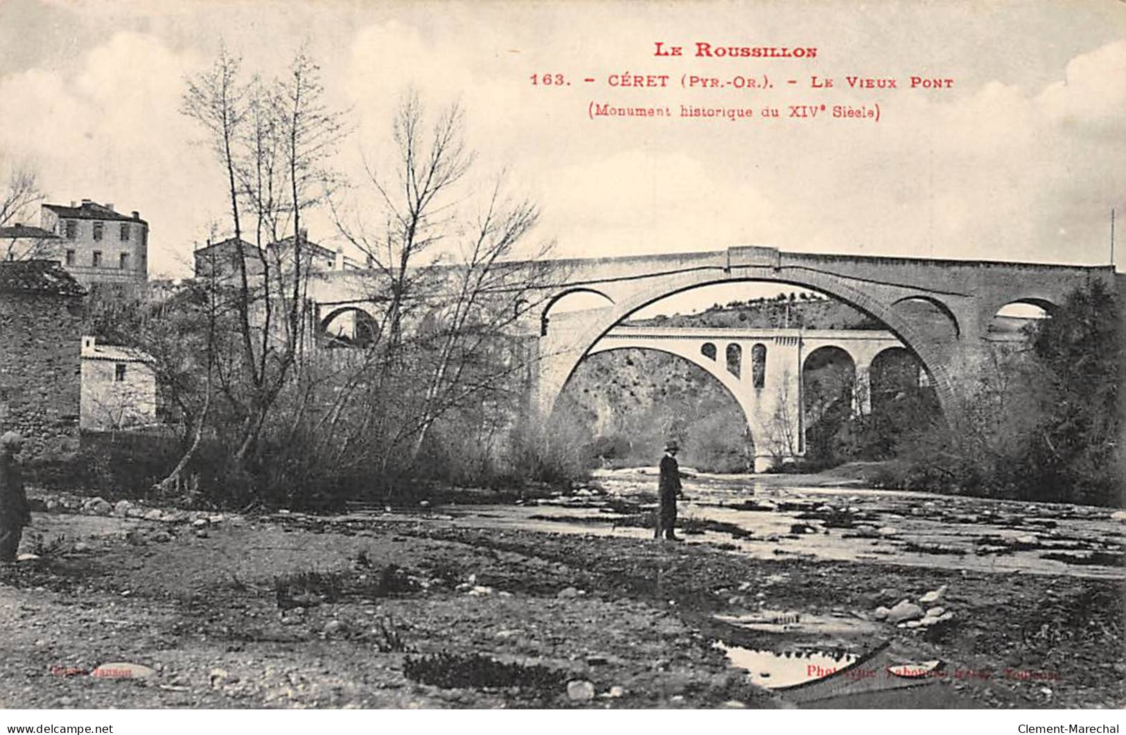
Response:
[[[0,262],[0,429],[25,457],[78,448],[83,295],[57,262]]]

